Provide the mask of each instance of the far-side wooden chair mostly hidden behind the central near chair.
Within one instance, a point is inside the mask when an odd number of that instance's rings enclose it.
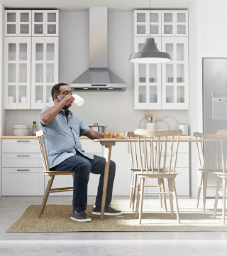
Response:
[[[128,136],[128,139],[134,139],[137,142],[138,135],[135,135],[134,132],[127,132],[126,136]],[[138,188],[137,185],[137,175],[135,174],[135,169],[138,169],[138,154],[136,149],[136,142],[129,142],[129,147],[130,147],[130,153],[131,153],[131,171],[132,171],[132,181],[131,181],[131,193],[130,193],[130,199],[129,199],[129,208],[132,207],[132,211],[134,211],[134,205],[135,205],[135,193],[136,193],[136,188]],[[157,158],[157,142],[155,146],[155,165],[156,165],[156,158]],[[160,192],[165,192],[165,186],[164,186],[164,180],[163,178],[157,178],[157,183],[158,185],[145,185],[145,188],[159,188]],[[165,210],[167,211],[167,206],[166,206],[166,200],[165,200],[165,194],[161,195],[160,194],[160,205],[162,208],[162,196],[164,200],[164,206]]]

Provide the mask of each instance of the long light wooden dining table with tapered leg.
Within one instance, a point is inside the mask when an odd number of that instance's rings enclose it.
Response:
[[[177,142],[177,138],[175,137],[174,142]],[[143,141],[143,139],[140,139]],[[147,142],[150,142],[150,139],[146,139]],[[227,142],[227,139],[223,139],[223,142]],[[94,139],[94,142],[99,142],[102,146],[105,146],[105,173],[104,173],[104,186],[102,193],[102,201],[101,201],[101,220],[104,219],[104,210],[106,203],[106,189],[109,177],[109,164],[111,160],[111,148],[116,145],[116,142],[138,142],[138,139],[129,139],[128,137],[123,137],[123,139]],[[155,142],[155,139],[153,139]],[[160,139],[160,142],[165,142],[165,139]],[[172,137],[167,138],[167,142],[172,142]],[[218,142],[217,139],[192,139],[192,136],[180,136],[179,142]]]

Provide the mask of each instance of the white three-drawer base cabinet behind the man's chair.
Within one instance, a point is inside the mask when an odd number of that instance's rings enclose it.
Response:
[[[2,140],[2,195],[43,196],[44,174],[37,139]]]

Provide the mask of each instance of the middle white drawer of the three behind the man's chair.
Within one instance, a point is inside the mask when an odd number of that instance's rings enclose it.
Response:
[[[2,154],[2,167],[43,168],[43,162],[40,154]]]

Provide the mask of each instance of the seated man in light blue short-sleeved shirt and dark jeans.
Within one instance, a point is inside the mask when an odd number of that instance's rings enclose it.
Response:
[[[79,142],[79,137],[85,135],[89,139],[98,139],[103,138],[104,133],[90,129],[82,119],[69,110],[72,102],[74,102],[74,97],[72,97],[72,90],[67,84],[54,85],[51,95],[54,101],[52,107],[44,107],[40,112],[40,130],[45,132],[44,140],[49,169],[50,171],[74,171],[71,219],[79,222],[91,221],[91,218],[84,213],[87,208],[89,174],[100,174],[96,202],[92,213],[101,215],[106,159],[85,153]],[[115,163],[111,161],[104,215],[121,214],[121,210],[115,210],[109,206],[112,198],[115,170]]]

